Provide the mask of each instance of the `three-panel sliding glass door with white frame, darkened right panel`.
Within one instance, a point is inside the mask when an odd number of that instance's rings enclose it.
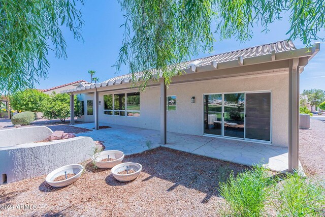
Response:
[[[206,94],[204,134],[271,141],[271,92]]]

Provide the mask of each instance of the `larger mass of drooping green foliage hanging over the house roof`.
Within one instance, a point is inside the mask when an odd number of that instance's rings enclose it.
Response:
[[[288,39],[306,46],[325,26],[325,1],[312,0],[119,0],[125,12],[123,44],[116,61],[129,66],[133,78],[142,72],[144,87],[156,72],[168,85],[180,74],[177,63],[199,51],[211,51],[215,37],[245,41],[252,28],[268,25],[289,13]],[[156,69],[151,70],[151,69]]]

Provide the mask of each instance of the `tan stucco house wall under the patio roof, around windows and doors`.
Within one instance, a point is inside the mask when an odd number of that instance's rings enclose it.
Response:
[[[287,146],[288,144],[288,75],[287,72],[277,74],[259,74],[233,78],[196,81],[183,84],[171,84],[167,90],[168,96],[177,97],[176,111],[167,112],[167,131],[203,135],[203,94],[236,92],[236,91],[272,91],[272,144]],[[129,92],[133,92],[130,90]],[[118,91],[116,93],[126,92]],[[113,92],[107,92],[113,93]],[[88,98],[93,95],[82,95]],[[99,122],[115,123],[131,127],[160,129],[159,97],[160,87],[150,87],[141,92],[141,116],[111,116],[104,115],[104,93],[99,94]],[[195,97],[196,103],[190,103]],[[85,107],[86,109],[86,107]],[[85,111],[86,114],[86,111]],[[83,121],[93,121],[86,115],[78,118]]]

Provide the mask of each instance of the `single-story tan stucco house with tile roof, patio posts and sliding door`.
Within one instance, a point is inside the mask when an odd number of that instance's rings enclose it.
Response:
[[[169,131],[284,146],[292,170],[298,168],[299,75],[319,45],[297,49],[279,41],[190,60],[168,88],[159,77],[139,92],[122,75],[62,92],[81,94],[78,120],[94,121],[95,129],[105,122],[160,130],[161,144]]]

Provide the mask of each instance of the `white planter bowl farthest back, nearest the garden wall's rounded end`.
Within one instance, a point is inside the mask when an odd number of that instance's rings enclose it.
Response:
[[[107,162],[101,162],[101,160],[108,158],[114,158],[114,161],[107,161]],[[124,153],[119,150],[108,150],[108,151],[102,151],[100,153],[95,154],[95,156],[92,156],[92,160],[95,161],[95,165],[98,168],[102,169],[108,169],[112,168],[118,164],[120,164],[124,159]]]

